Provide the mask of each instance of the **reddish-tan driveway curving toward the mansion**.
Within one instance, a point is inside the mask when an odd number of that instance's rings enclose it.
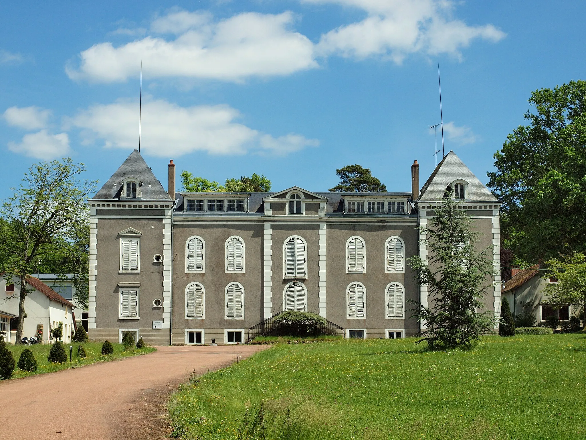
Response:
[[[0,437],[160,440],[165,398],[198,374],[265,346],[157,347],[144,356],[0,382]]]

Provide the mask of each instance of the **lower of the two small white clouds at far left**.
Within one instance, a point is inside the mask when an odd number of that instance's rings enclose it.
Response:
[[[49,134],[47,130],[25,134],[21,143],[8,143],[8,150],[43,160],[65,157],[70,154],[67,133]]]

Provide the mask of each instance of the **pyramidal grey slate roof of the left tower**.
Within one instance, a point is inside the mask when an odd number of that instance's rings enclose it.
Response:
[[[94,195],[93,199],[120,199],[122,181],[128,177],[135,177],[142,183],[140,190],[143,200],[171,200],[171,197],[169,197],[161,182],[157,180],[141,154],[138,153],[138,150],[130,153],[127,160],[105,182],[104,186]]]

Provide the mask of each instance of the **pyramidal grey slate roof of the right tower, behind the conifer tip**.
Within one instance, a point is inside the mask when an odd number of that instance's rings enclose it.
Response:
[[[468,182],[466,189],[466,200],[496,202],[496,197],[478,180],[472,171],[469,170],[464,162],[450,151],[442,161],[435,167],[430,178],[421,188],[421,195],[418,201],[436,201],[444,197],[445,188],[455,180],[464,180]]]

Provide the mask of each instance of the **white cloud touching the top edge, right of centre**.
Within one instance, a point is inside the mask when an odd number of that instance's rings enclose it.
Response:
[[[452,18],[455,2],[450,0],[302,1],[339,4],[366,12],[362,21],[322,35],[316,50],[323,56],[338,54],[357,59],[383,56],[396,63],[416,52],[461,57],[460,50],[469,46],[473,39],[497,42],[505,37],[505,33],[493,25],[469,26]]]

